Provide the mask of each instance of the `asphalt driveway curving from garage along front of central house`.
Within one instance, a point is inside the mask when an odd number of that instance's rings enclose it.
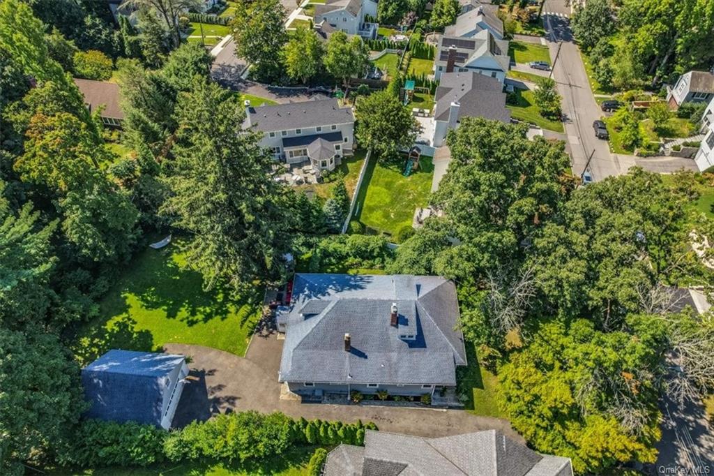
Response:
[[[283,341],[276,334],[258,335],[248,347],[246,357],[209,347],[166,344],[166,352],[191,357],[191,375],[178,402],[174,426],[193,420],[207,420],[226,412],[257,410],[283,412],[310,420],[374,422],[380,430],[418,436],[448,436],[478,430],[500,430],[523,442],[506,420],[477,417],[463,410],[381,407],[368,405],[326,405],[281,400],[278,369]]]

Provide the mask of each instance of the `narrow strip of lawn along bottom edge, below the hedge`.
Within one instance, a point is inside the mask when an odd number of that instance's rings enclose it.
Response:
[[[51,476],[308,476],[313,446],[291,447],[262,464],[246,463],[226,467],[220,463],[165,463],[151,467],[106,467],[96,470],[52,470]],[[326,448],[330,450],[330,448]]]

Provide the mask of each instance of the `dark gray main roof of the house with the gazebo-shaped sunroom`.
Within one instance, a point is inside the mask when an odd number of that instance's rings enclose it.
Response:
[[[272,106],[251,106],[247,110],[244,125],[262,132],[273,132],[351,124],[354,121],[350,107],[341,107],[337,99],[320,99]]]

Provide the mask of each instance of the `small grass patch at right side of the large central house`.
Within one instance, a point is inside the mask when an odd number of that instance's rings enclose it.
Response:
[[[467,367],[456,369],[456,381],[459,389],[466,389],[468,401],[466,411],[474,415],[506,418],[496,405],[498,377],[479,365],[476,349],[471,342],[466,342]]]

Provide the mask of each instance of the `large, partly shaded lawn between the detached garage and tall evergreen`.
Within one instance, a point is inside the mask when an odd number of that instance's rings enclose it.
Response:
[[[108,349],[160,350],[169,342],[243,355],[260,317],[262,289],[229,297],[204,292],[201,274],[186,267],[183,242],[147,247],[111,284],[99,317],[81,327],[71,346],[81,362]]]

